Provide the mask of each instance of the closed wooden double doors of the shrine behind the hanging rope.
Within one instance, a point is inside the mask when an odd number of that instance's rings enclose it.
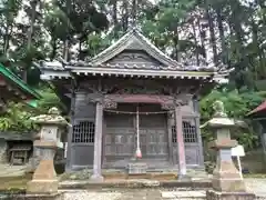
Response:
[[[123,110],[135,107],[126,104]],[[131,106],[131,108],[129,108]],[[153,111],[153,107],[143,106],[141,112]],[[150,111],[150,112],[151,112]],[[155,110],[156,111],[156,110]],[[103,148],[104,168],[125,168],[136,150],[136,116],[130,113],[105,113],[105,131]],[[140,144],[143,160],[153,161],[168,160],[168,134],[166,114],[140,114]],[[157,163],[154,163],[157,164]]]

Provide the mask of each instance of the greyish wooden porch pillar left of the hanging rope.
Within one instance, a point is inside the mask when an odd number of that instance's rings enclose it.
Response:
[[[102,127],[103,127],[103,104],[96,102],[95,114],[95,137],[94,137],[94,158],[93,158],[93,174],[91,179],[94,181],[103,181],[102,177]]]

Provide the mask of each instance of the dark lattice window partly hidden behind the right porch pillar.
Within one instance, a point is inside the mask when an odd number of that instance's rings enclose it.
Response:
[[[196,130],[194,120],[191,120],[191,121],[184,120],[183,121],[183,137],[184,137],[185,143],[197,142],[197,130]],[[172,141],[173,141],[173,143],[177,142],[175,126],[172,126]]]

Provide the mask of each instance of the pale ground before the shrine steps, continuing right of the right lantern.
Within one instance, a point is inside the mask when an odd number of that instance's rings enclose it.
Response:
[[[245,179],[247,190],[266,200],[266,179]],[[143,189],[117,191],[65,191],[65,200],[202,200],[205,191],[171,191],[171,189]],[[183,198],[182,198],[183,197]]]

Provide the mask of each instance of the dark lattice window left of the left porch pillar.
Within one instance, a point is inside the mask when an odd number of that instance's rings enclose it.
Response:
[[[72,142],[74,143],[93,143],[95,124],[92,121],[81,121],[73,126]]]

